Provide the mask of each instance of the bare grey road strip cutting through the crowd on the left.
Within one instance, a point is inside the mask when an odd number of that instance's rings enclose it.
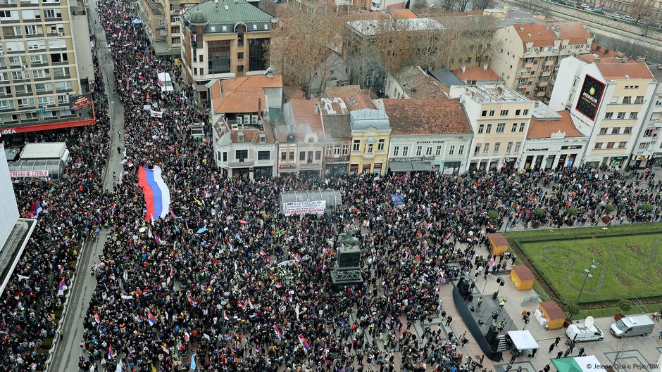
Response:
[[[124,148],[124,105],[114,91],[115,75],[113,73],[113,60],[106,47],[107,41],[104,30],[96,21],[95,8],[96,0],[89,0],[89,20],[91,23],[94,23],[94,27],[92,28],[96,36],[96,45],[99,48],[99,63],[101,64],[101,71],[104,75],[103,79],[106,86],[108,104],[110,105],[108,113],[111,119],[111,131],[109,134],[111,136],[111,146],[103,180],[104,189],[106,191],[112,191],[113,183],[120,181],[122,177],[123,166],[120,164],[120,160],[123,159]],[[118,153],[118,146],[122,150],[121,153]],[[117,179],[113,177],[113,172],[117,175]],[[96,286],[96,279],[90,274],[90,268],[93,261],[99,261],[99,256],[104,250],[107,234],[108,230],[102,229],[99,238],[96,240],[89,238],[83,245],[79,257],[80,262],[78,264],[76,280],[70,288],[71,295],[67,312],[64,314],[62,335],[56,345],[51,364],[47,367],[47,371],[78,372],[78,357],[83,352],[80,347],[80,342],[83,340],[83,320],[85,319],[87,307]]]

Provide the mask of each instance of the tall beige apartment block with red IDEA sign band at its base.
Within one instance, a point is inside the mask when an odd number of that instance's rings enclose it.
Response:
[[[0,134],[94,124],[92,106],[69,104],[89,91],[88,63],[85,7],[73,0],[0,2]]]

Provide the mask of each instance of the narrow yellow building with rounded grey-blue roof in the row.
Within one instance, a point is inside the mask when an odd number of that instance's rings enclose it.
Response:
[[[351,148],[350,173],[386,172],[391,126],[383,110],[363,108],[349,113]]]

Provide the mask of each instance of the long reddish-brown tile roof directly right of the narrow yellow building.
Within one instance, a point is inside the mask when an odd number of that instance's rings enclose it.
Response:
[[[460,101],[449,98],[385,99],[391,135],[473,134]]]

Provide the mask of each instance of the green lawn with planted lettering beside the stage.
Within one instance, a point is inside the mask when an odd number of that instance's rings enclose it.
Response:
[[[655,231],[654,233],[646,233]],[[608,229],[508,233],[561,300],[575,303],[593,263],[582,302],[662,296],[662,229],[659,224]]]

